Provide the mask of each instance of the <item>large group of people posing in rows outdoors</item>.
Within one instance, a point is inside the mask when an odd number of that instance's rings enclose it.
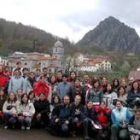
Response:
[[[46,128],[55,136],[140,139],[140,83],[131,77],[77,76],[0,65],[0,122],[4,129]]]

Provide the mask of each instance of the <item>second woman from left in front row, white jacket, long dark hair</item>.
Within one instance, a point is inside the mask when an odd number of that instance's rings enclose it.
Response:
[[[19,114],[18,114],[18,121],[21,124],[21,129],[29,130],[31,127],[32,117],[35,113],[35,108],[33,103],[29,102],[28,95],[23,94],[21,96],[21,102],[19,104]]]

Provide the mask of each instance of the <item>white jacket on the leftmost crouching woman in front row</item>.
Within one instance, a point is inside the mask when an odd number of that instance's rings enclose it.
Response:
[[[8,109],[11,106],[11,109]],[[3,105],[3,112],[4,113],[14,113],[18,114],[19,113],[19,101],[5,101]]]

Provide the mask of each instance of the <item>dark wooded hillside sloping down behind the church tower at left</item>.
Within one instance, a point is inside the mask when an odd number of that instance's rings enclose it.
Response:
[[[56,37],[36,27],[0,19],[0,55],[8,55],[14,51],[51,53],[52,46],[58,39],[68,52],[72,45],[67,39]]]

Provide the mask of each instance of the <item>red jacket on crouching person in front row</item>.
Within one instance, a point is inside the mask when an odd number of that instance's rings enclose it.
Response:
[[[97,121],[104,127],[109,121],[110,110],[107,107],[102,109],[100,106],[96,106],[95,112],[97,113]]]

